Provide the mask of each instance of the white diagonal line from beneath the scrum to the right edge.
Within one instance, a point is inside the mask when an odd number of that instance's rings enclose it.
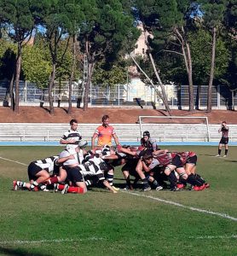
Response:
[[[173,206],[176,206],[176,207],[182,207],[182,208],[185,208],[185,209],[188,209],[188,210],[191,210],[191,211],[194,211],[194,212],[203,212],[203,213],[207,213],[207,214],[211,214],[211,215],[216,215],[216,216],[219,216],[219,217],[222,217],[222,218],[228,218],[228,219],[231,219],[231,220],[234,220],[234,221],[237,221],[237,218],[234,218],[232,216],[229,216],[228,214],[226,213],[220,213],[220,212],[212,212],[212,211],[208,211],[208,210],[204,210],[204,209],[199,209],[199,208],[195,208],[195,207],[187,207],[187,206],[184,206],[180,203],[177,203],[175,201],[167,201],[167,200],[164,200],[164,199],[161,199],[161,198],[158,198],[158,197],[153,197],[151,195],[141,195],[141,194],[137,194],[137,193],[132,193],[132,192],[125,192],[125,193],[128,193],[130,195],[136,195],[136,196],[142,196],[142,197],[146,197],[146,198],[149,198],[149,199],[153,199],[155,201],[161,201],[165,204],[169,204],[169,205],[173,205]]]

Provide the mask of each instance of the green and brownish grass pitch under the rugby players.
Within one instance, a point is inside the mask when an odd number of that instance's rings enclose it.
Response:
[[[237,255],[237,147],[227,159],[212,157],[217,147],[171,149],[194,150],[211,188],[13,191],[12,180],[26,180],[32,160],[61,148],[1,147],[0,255]],[[115,184],[124,183],[119,169],[115,177]]]

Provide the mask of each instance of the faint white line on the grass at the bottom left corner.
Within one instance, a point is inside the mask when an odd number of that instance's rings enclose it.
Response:
[[[88,238],[78,238],[78,239],[44,239],[44,240],[37,240],[37,241],[22,241],[22,240],[16,240],[16,241],[0,241],[0,245],[6,245],[6,244],[33,244],[33,243],[55,243],[55,242],[66,242],[66,241],[101,241],[105,240],[105,238],[100,237],[88,237]]]

